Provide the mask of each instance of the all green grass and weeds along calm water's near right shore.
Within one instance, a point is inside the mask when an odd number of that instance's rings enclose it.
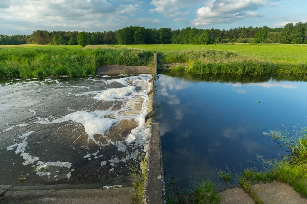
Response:
[[[307,196],[307,127],[293,131],[296,133],[294,136],[291,136],[288,130],[284,132],[270,130],[263,133],[270,136],[280,147],[286,147],[290,150],[290,154],[283,155],[281,160],[264,159],[257,154],[258,162],[248,161],[255,165],[253,168],[247,168],[243,172],[236,173],[235,170],[231,172],[226,165],[226,171],[218,169],[217,178],[221,179],[227,186],[232,185],[232,183],[230,184],[231,181],[238,183],[258,204],[263,202],[257,197],[256,192],[252,191],[252,185],[257,182],[278,181],[287,183],[301,195]],[[193,204],[211,204],[220,201],[215,183],[212,183],[208,178],[197,179],[192,187],[180,191],[179,184],[171,176],[166,187],[168,204],[184,203],[183,200],[188,200]]]

